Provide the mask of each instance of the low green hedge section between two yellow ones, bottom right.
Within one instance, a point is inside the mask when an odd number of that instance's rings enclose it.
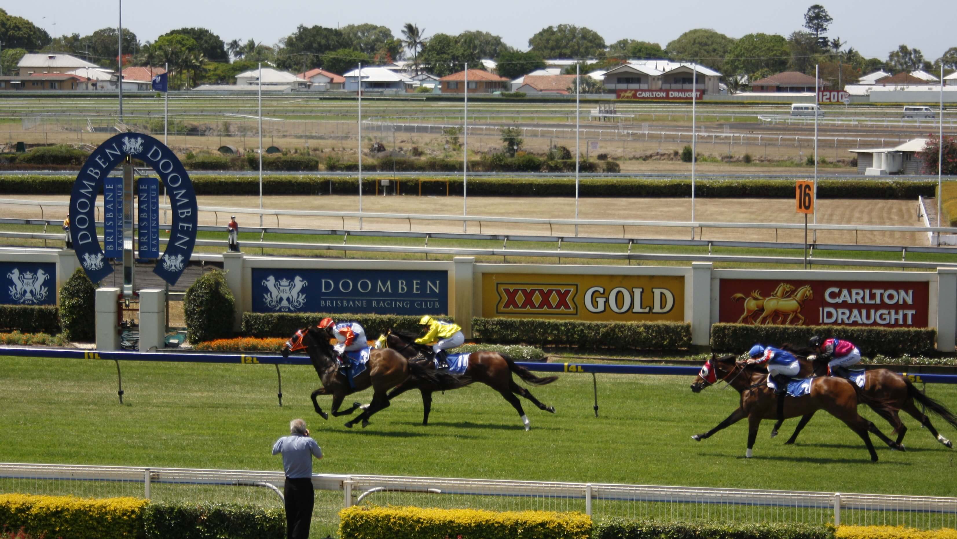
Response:
[[[834,539],[834,528],[809,524],[738,524],[605,519],[592,539]]]

